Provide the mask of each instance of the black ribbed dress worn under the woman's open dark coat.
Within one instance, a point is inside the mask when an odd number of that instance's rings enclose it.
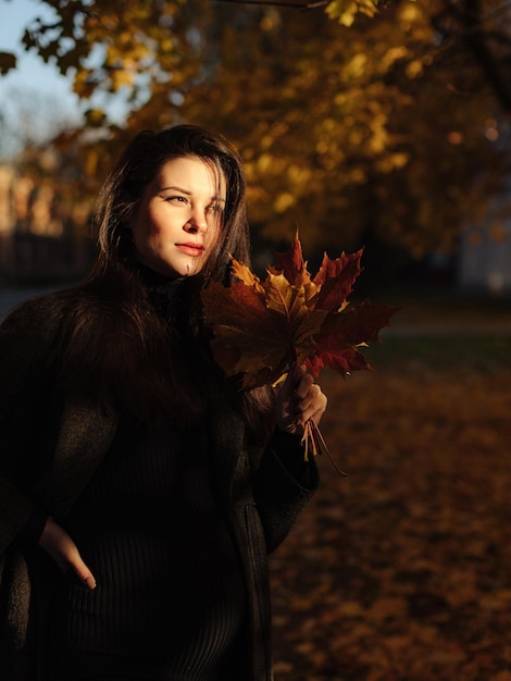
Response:
[[[65,523],[97,579],[53,610],[52,681],[212,681],[245,612],[201,429],[123,422]]]

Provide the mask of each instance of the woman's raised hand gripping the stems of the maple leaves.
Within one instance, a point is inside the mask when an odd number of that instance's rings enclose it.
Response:
[[[295,364],[278,394],[277,425],[287,433],[302,435],[309,419],[319,425],[326,410],[326,396],[311,374]]]

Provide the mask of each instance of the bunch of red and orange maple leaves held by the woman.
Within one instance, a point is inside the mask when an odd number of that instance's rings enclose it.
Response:
[[[275,253],[264,281],[230,258],[236,277],[230,286],[211,282],[201,294],[219,366],[228,376],[240,375],[244,388],[274,385],[295,362],[314,377],[325,367],[342,375],[371,369],[359,348],[379,340],[396,308],[348,302],[362,252],[336,260],[325,253],[312,278],[297,235],[289,250]],[[310,450],[327,453],[312,420],[303,442],[306,460]]]

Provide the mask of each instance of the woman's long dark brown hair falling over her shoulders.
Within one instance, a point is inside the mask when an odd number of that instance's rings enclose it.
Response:
[[[216,248],[199,274],[179,284],[182,324],[176,331],[157,313],[140,281],[126,224],[162,165],[189,156],[224,176],[226,205]],[[142,132],[107,177],[96,224],[98,259],[86,283],[73,293],[73,321],[63,352],[65,380],[141,421],[197,422],[205,409],[203,385],[219,380],[209,354],[200,288],[210,280],[228,284],[229,253],[247,264],[250,259],[246,182],[238,153],[223,137],[192,125]],[[257,430],[271,405],[270,393],[245,394],[239,404]]]

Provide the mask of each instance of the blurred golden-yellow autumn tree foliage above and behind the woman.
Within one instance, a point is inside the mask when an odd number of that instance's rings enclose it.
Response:
[[[374,239],[447,250],[509,173],[506,0],[45,0],[23,42],[90,106],[59,136],[83,190],[141,128],[192,122],[240,149],[250,216],[306,252]],[[0,55],[0,70],[12,55]]]

